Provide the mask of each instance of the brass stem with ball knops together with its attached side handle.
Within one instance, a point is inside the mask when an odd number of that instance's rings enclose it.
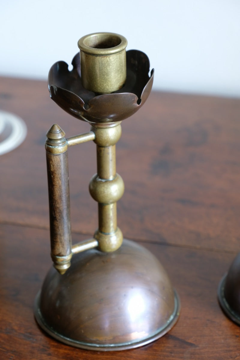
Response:
[[[124,192],[122,177],[116,173],[116,143],[121,137],[121,122],[92,126],[91,131],[65,139],[64,131],[54,124],[47,132],[45,144],[49,189],[51,258],[60,274],[71,266],[73,253],[93,247],[103,252],[116,251],[122,244],[122,231],[117,227],[117,201]],[[89,190],[98,204],[99,228],[94,238],[72,247],[68,146],[94,140],[97,145],[98,172]]]

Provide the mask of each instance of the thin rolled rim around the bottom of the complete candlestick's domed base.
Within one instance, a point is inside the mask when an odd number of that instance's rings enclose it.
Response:
[[[37,323],[39,324],[39,326],[51,337],[55,338],[56,340],[58,340],[60,342],[63,342],[64,344],[82,348],[82,349],[86,349],[86,350],[95,350],[95,351],[127,350],[127,349],[133,349],[136,347],[147,345],[150,342],[153,342],[153,341],[159,339],[160,337],[164,336],[169,330],[171,330],[172,327],[176,324],[176,322],[179,318],[179,315],[180,315],[181,303],[180,303],[180,298],[178,296],[178,293],[176,292],[175,289],[173,289],[173,292],[174,292],[175,308],[174,308],[173,313],[167,320],[166,324],[162,328],[158,329],[158,331],[155,332],[154,334],[151,334],[149,337],[142,339],[141,341],[136,341],[136,342],[131,341],[128,343],[99,345],[99,344],[90,344],[90,343],[86,343],[86,342],[81,342],[81,341],[69,339],[65,336],[62,336],[61,334],[57,333],[53,328],[49,327],[48,324],[46,324],[46,322],[41,314],[41,310],[40,310],[40,306],[39,306],[41,291],[38,292],[38,294],[35,298],[33,310],[34,310],[35,319],[36,319]]]

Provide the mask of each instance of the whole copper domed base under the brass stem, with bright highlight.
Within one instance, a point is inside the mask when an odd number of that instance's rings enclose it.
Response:
[[[169,278],[147,249],[124,240],[112,253],[76,254],[64,275],[54,268],[36,297],[39,325],[68,345],[125,350],[166,334],[180,301]]]

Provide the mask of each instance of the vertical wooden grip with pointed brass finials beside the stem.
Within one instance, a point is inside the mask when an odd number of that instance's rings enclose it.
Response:
[[[68,181],[68,144],[54,124],[47,132],[46,160],[49,193],[51,258],[60,274],[71,265],[72,239]]]

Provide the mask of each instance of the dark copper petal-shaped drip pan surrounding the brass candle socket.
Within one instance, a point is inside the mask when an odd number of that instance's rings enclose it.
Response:
[[[78,119],[91,123],[116,122],[134,114],[148,98],[153,85],[149,77],[149,59],[139,50],[126,53],[127,78],[122,89],[98,95],[86,90],[81,82],[80,54],[72,60],[69,71],[64,61],[56,62],[49,71],[50,97],[62,109]]]

